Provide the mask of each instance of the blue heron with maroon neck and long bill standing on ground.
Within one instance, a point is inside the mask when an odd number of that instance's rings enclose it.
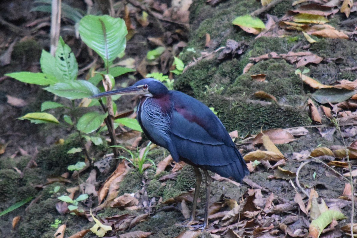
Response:
[[[206,206],[203,228],[208,224],[211,177],[207,170],[240,182],[249,174],[246,163],[227,130],[217,116],[202,102],[153,78],[145,78],[133,86],[93,95],[91,98],[115,94],[141,95],[137,120],[145,135],[155,144],[169,150],[172,159],[193,166],[196,174],[191,219],[195,219],[197,198],[203,170],[206,177]]]

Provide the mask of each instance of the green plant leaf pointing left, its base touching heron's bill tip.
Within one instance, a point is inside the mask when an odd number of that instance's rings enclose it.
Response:
[[[99,93],[99,89],[97,87],[85,80],[56,83],[55,85],[44,89],[60,97],[68,99],[87,98]]]

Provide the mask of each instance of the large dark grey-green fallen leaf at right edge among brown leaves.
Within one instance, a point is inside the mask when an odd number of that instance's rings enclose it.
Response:
[[[354,94],[356,94],[355,91],[344,88],[321,88],[311,94],[311,97],[321,104],[329,102],[341,103],[352,97]]]

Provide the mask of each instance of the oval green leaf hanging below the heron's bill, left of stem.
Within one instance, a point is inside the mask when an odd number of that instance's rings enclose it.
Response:
[[[91,133],[99,128],[103,123],[104,119],[107,117],[106,114],[101,114],[99,112],[89,112],[78,120],[77,129],[84,133]]]

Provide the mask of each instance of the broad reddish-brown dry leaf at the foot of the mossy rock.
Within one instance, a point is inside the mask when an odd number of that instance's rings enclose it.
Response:
[[[301,131],[302,130],[300,130],[300,132]],[[253,139],[252,144],[253,145],[262,144],[263,143],[263,140],[262,140],[263,135],[268,135],[270,140],[274,144],[285,144],[285,143],[289,143],[289,142],[295,140],[294,136],[289,131],[283,130],[281,128],[276,128],[276,129],[269,129],[269,130],[262,131]],[[301,135],[301,133],[298,133],[297,135]]]

